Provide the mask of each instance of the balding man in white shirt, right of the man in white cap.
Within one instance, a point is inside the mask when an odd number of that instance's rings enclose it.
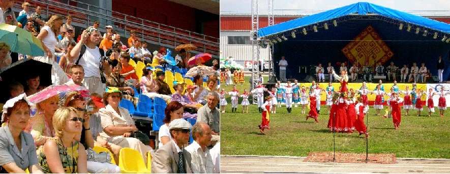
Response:
[[[197,122],[192,128],[194,142],[186,147],[191,154],[191,168],[193,173],[214,173],[214,163],[207,148],[211,145],[211,128],[205,122]]]

